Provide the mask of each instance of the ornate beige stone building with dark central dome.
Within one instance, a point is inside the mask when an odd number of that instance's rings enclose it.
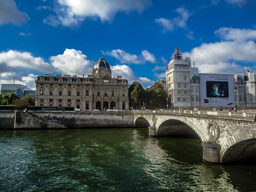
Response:
[[[36,106],[74,107],[78,110],[129,109],[129,84],[122,76],[112,78],[109,63],[100,58],[92,75],[37,76]]]

